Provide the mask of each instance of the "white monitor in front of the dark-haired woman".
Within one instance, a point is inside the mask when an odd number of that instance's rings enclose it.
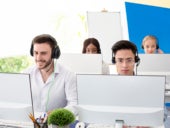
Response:
[[[58,62],[77,74],[102,74],[101,54],[63,53]]]

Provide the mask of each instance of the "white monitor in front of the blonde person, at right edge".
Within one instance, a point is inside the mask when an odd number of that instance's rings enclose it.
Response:
[[[170,54],[139,54],[139,75],[170,75]]]

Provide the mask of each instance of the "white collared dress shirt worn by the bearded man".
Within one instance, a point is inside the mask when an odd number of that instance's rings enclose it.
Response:
[[[36,65],[24,71],[31,77],[33,106],[36,112],[48,112],[56,108],[68,108],[77,115],[76,74],[60,64],[44,83]]]

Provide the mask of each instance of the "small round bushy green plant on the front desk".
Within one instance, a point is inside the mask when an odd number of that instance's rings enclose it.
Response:
[[[59,127],[64,127],[66,125],[69,125],[70,123],[73,123],[74,121],[74,114],[64,108],[53,110],[48,116],[48,124],[57,125]]]

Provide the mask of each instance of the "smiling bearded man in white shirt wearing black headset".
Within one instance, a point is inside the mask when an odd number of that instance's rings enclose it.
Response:
[[[30,54],[35,65],[25,72],[31,77],[34,110],[49,112],[65,107],[76,115],[76,75],[56,63],[60,49],[55,38],[48,34],[36,36],[32,40]]]

